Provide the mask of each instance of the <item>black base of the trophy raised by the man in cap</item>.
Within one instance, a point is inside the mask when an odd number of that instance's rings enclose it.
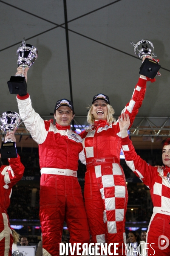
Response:
[[[27,84],[24,76],[11,76],[7,84],[11,94],[27,94]]]

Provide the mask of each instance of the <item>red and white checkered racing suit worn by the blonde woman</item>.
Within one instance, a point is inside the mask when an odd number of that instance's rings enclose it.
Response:
[[[131,124],[142,105],[145,90],[146,80],[139,78],[132,99],[122,111],[129,114]],[[109,125],[107,120],[95,121],[80,136],[87,163],[84,198],[91,242],[119,243],[116,252],[122,255],[122,243],[126,241],[128,194],[125,175],[120,166],[119,122]]]

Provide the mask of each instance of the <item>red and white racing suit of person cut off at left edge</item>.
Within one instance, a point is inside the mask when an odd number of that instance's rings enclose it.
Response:
[[[13,236],[7,209],[10,204],[12,187],[23,177],[24,166],[20,156],[8,159],[9,166],[0,167],[0,256],[11,256]]]

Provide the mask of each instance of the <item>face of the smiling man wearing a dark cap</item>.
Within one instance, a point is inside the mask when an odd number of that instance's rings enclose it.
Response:
[[[70,125],[71,120],[74,118],[73,111],[67,106],[61,106],[54,114],[57,124],[61,126]]]

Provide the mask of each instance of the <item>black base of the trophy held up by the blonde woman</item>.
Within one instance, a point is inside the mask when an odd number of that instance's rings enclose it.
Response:
[[[158,73],[160,67],[161,66],[158,64],[158,62],[153,61],[150,58],[145,58],[142,66],[140,67],[139,74],[153,79]]]

